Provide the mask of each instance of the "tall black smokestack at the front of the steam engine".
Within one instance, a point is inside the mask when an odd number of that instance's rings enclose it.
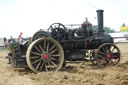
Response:
[[[98,33],[99,35],[103,35],[104,34],[104,30],[103,30],[103,12],[104,10],[97,10],[97,18],[98,18]]]

